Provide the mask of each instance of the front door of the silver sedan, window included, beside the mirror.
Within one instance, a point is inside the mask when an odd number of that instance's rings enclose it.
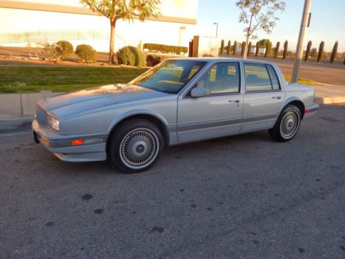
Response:
[[[239,133],[243,94],[238,62],[219,62],[194,87],[208,88],[210,95],[178,99],[179,142],[206,140]]]

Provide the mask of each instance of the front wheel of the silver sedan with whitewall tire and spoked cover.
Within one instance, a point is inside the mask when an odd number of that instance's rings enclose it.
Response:
[[[124,173],[150,169],[164,149],[161,131],[146,119],[130,119],[120,124],[109,141],[110,160]]]

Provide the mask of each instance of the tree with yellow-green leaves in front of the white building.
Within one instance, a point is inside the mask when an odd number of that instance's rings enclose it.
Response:
[[[115,61],[115,27],[119,19],[132,21],[134,17],[144,21],[146,18],[160,15],[158,5],[160,0],[80,0],[84,6],[93,12],[98,12],[110,20],[110,50],[109,63]]]

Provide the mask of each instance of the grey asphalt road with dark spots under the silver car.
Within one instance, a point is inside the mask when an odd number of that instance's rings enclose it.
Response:
[[[167,148],[145,173],[0,137],[0,258],[345,258],[345,106]]]

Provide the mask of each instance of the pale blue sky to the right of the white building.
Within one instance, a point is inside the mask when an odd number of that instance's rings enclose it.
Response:
[[[309,40],[312,48],[319,48],[321,41],[325,42],[325,51],[331,51],[335,41],[339,41],[338,52],[345,52],[345,0],[311,0],[311,25],[304,37],[304,46]],[[245,41],[244,24],[239,23],[239,8],[236,0],[199,0],[197,32],[202,36],[215,36],[217,22],[218,37],[231,40],[232,43]],[[257,32],[259,39],[270,39],[273,46],[287,39],[290,50],[297,46],[299,27],[302,20],[304,0],[285,0],[284,12],[277,12],[277,26],[270,35]],[[256,42],[257,40],[252,40]]]

